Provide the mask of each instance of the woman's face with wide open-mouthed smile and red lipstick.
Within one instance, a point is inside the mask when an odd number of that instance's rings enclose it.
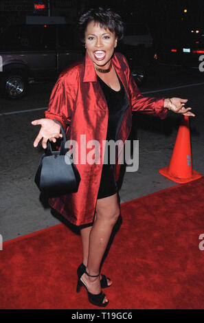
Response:
[[[91,21],[85,31],[85,46],[93,63],[98,67],[108,69],[111,64],[114,48],[117,45],[115,32],[100,27],[99,23]]]

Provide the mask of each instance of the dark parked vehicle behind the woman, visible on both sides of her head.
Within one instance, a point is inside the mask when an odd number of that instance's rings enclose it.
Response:
[[[126,56],[140,85],[155,60],[152,49],[121,44],[117,52]],[[73,24],[13,25],[0,34],[0,56],[1,93],[17,99],[31,82],[56,80],[60,71],[84,56],[84,47]]]

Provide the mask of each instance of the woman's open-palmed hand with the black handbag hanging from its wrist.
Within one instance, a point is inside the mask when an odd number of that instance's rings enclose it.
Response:
[[[47,148],[47,140],[51,142],[56,142],[56,138],[61,138],[63,137],[62,133],[60,133],[60,124],[57,124],[54,122],[52,119],[38,119],[38,120],[33,120],[31,122],[34,126],[41,125],[41,130],[39,131],[33,145],[34,147],[38,146],[38,143],[40,140],[42,140],[42,146],[43,148]]]

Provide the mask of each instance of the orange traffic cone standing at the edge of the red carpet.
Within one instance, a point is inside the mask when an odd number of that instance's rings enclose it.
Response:
[[[159,169],[159,172],[176,183],[188,183],[202,177],[192,169],[189,117],[182,116],[170,164]]]

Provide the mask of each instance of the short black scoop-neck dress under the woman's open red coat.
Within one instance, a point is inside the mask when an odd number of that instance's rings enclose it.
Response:
[[[98,77],[102,91],[106,98],[106,102],[109,108],[109,122],[106,140],[116,140],[117,131],[120,129],[124,111],[128,108],[128,97],[124,89],[120,78],[117,76],[120,82],[120,91],[111,89],[106,83]],[[109,147],[109,146],[108,146]],[[100,188],[98,190],[98,199],[109,197],[117,192],[117,183],[115,181],[114,164],[110,161],[110,152],[106,148],[108,153],[108,164],[103,164],[102,175],[100,179]]]

